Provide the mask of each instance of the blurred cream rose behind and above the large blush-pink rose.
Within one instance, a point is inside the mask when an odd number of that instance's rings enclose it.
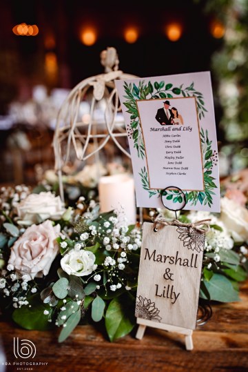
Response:
[[[19,224],[29,226],[39,224],[45,219],[60,219],[65,213],[63,202],[59,196],[48,193],[30,194],[17,204]]]

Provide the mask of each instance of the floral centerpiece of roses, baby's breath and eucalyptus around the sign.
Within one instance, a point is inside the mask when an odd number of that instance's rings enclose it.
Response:
[[[127,226],[122,211],[99,214],[93,199],[79,197],[66,208],[50,191],[34,194],[27,186],[1,188],[0,203],[3,313],[25,329],[61,327],[59,342],[85,322],[102,322],[110,341],[132,331],[141,228]],[[220,217],[190,212],[180,219],[206,217],[200,297],[238,301],[238,282],[247,277],[248,211],[225,197]]]

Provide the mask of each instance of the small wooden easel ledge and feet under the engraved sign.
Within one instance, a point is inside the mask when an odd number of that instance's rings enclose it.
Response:
[[[141,317],[137,317],[137,324],[138,324],[138,331],[136,333],[136,338],[138,340],[142,340],[145,329],[147,326],[156,328],[156,329],[163,329],[163,331],[168,331],[168,332],[175,332],[175,333],[180,333],[182,335],[185,335],[185,348],[186,350],[193,350],[193,340],[192,340],[192,334],[193,331],[192,329],[186,329],[183,327],[179,326],[172,326],[170,324],[163,324],[163,323],[154,323],[151,320],[146,320],[142,319]]]

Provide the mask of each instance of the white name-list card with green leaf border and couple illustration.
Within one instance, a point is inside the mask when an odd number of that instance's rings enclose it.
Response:
[[[220,212],[218,148],[209,72],[115,81],[127,128],[137,206],[163,208],[167,186],[186,210]],[[177,202],[178,195],[167,198]]]

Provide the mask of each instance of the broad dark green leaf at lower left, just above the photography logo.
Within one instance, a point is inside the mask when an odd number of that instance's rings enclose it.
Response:
[[[48,319],[52,314],[52,309],[41,302],[39,293],[28,297],[28,302],[31,307],[23,305],[20,309],[14,310],[12,314],[14,322],[24,329],[36,329],[37,331],[51,329],[52,325]],[[44,314],[45,310],[49,312],[48,315]]]

